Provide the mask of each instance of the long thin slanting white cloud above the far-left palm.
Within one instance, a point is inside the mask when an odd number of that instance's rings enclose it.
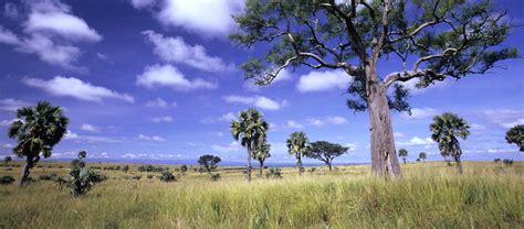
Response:
[[[84,101],[102,102],[106,98],[122,99],[127,102],[135,101],[127,94],[118,94],[105,87],[94,86],[73,77],[55,76],[50,80],[24,78],[22,81],[30,87],[40,88],[54,96],[73,97]]]

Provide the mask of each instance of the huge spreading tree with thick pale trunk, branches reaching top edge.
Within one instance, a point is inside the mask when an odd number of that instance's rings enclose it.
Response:
[[[413,79],[428,87],[486,73],[517,56],[515,48],[501,45],[512,28],[506,12],[493,10],[489,1],[247,0],[233,18],[241,28],[231,34],[234,42],[269,45],[264,56],[242,65],[256,84],[271,84],[282,69],[298,66],[343,69],[353,79],[347,105],[369,110],[376,175],[401,175],[389,111],[409,111],[408,91],[399,83]],[[399,63],[398,70],[379,76],[386,58]]]

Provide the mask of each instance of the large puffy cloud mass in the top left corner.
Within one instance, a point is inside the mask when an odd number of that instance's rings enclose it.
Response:
[[[24,34],[17,35],[0,25],[0,43],[12,45],[20,53],[35,54],[51,65],[83,69],[75,66],[82,52],[73,43],[98,42],[102,35],[59,0],[27,1],[24,6],[28,12],[22,23]],[[13,12],[12,9],[17,8],[4,6],[4,12]]]

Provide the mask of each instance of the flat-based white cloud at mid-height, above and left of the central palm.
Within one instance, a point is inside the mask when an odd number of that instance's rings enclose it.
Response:
[[[153,65],[147,66],[142,75],[136,78],[136,84],[146,88],[156,86],[166,86],[175,90],[193,90],[193,89],[214,89],[216,83],[206,81],[201,78],[193,80],[187,79],[182,73],[171,65]]]

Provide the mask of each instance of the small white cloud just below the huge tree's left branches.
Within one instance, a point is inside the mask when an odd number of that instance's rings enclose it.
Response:
[[[313,70],[300,77],[296,88],[301,92],[346,89],[350,81],[344,70]]]

